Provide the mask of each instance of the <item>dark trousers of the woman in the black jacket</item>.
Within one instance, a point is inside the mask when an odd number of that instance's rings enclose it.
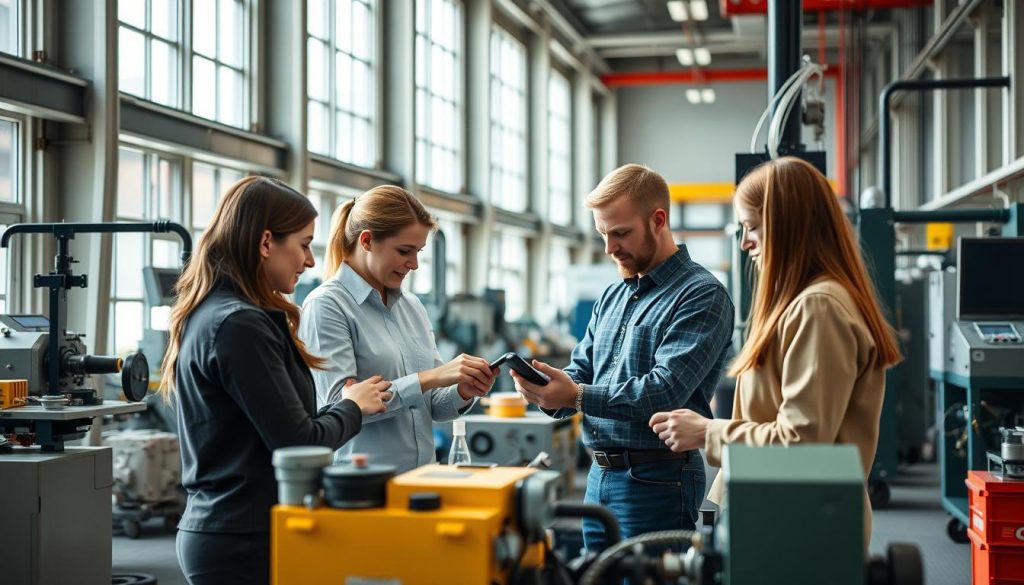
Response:
[[[188,585],[266,585],[270,535],[179,530],[178,565]]]

